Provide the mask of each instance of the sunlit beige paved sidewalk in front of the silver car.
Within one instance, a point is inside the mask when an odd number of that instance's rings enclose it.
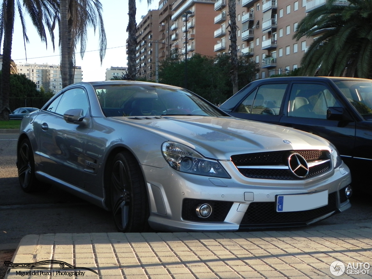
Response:
[[[329,271],[334,260],[372,265],[372,228],[26,235],[20,241],[13,262],[51,259],[88,267],[99,274],[82,269],[84,276],[72,278],[334,278]],[[21,278],[16,275],[17,271],[30,269],[11,269],[5,279]],[[25,278],[53,277],[71,278],[68,275],[26,275]],[[371,277],[372,274],[342,276],[343,279]]]

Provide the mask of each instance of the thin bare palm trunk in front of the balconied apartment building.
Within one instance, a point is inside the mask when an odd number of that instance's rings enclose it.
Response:
[[[238,50],[236,47],[236,2],[229,0],[229,17],[230,17],[230,52],[231,52],[231,81],[232,81],[232,94],[238,92]]]

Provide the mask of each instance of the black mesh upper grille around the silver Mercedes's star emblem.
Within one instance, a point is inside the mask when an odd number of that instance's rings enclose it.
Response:
[[[293,152],[300,154],[307,162],[325,160],[328,154],[326,150],[288,150],[232,155],[231,161],[238,167],[241,174],[249,178],[298,180],[300,178],[295,176],[289,169],[262,168],[262,166],[288,166],[288,156]],[[260,168],[239,168],[241,166],[260,166]],[[330,170],[330,168],[330,161],[310,167],[305,179],[322,174]]]

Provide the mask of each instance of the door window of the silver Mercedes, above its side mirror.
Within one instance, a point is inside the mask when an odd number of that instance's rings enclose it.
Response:
[[[69,109],[83,109],[83,114],[87,113],[89,103],[83,89],[74,88],[64,92],[55,113],[63,115]]]

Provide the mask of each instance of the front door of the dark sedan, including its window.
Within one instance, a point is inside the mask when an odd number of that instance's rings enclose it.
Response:
[[[342,107],[347,112],[343,101],[328,84],[309,81],[293,82],[280,125],[327,139],[336,146],[343,159],[349,161],[353,156],[355,144],[355,121],[327,119],[329,107]]]

